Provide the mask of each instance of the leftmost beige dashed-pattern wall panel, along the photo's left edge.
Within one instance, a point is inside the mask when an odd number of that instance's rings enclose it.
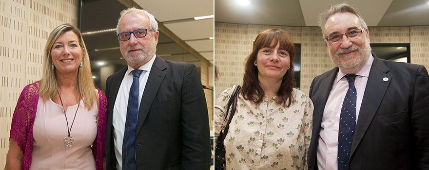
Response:
[[[7,8],[11,3],[0,4],[0,167],[4,167],[9,148],[10,119],[25,81],[25,45],[27,24],[21,17],[21,4]],[[11,15],[16,14],[18,15]],[[17,17],[19,16],[19,17]]]

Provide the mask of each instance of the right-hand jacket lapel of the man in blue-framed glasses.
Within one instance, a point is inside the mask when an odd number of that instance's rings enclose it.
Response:
[[[140,109],[138,110],[136,135],[140,131],[140,128],[152,107],[155,96],[158,93],[159,86],[161,86],[161,83],[164,80],[166,74],[166,72],[164,72],[165,68],[167,67],[165,66],[164,59],[156,55],[143,91],[143,96],[141,97]]]

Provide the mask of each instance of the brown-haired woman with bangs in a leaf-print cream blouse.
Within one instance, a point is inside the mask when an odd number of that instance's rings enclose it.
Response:
[[[292,37],[283,30],[256,36],[224,140],[227,170],[307,168],[313,107],[306,94],[293,88],[294,55]],[[215,103],[215,141],[228,120],[231,93],[226,89]]]

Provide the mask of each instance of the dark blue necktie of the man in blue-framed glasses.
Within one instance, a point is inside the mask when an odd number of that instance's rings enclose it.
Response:
[[[127,119],[125,120],[124,141],[122,143],[122,170],[137,170],[135,138],[138,114],[138,77],[142,71],[141,69],[131,71],[133,84],[128,97]]]

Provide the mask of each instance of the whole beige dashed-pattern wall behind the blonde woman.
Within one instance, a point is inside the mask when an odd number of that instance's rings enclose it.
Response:
[[[0,169],[23,87],[41,78],[43,49],[60,24],[77,25],[78,0],[0,0]]]

